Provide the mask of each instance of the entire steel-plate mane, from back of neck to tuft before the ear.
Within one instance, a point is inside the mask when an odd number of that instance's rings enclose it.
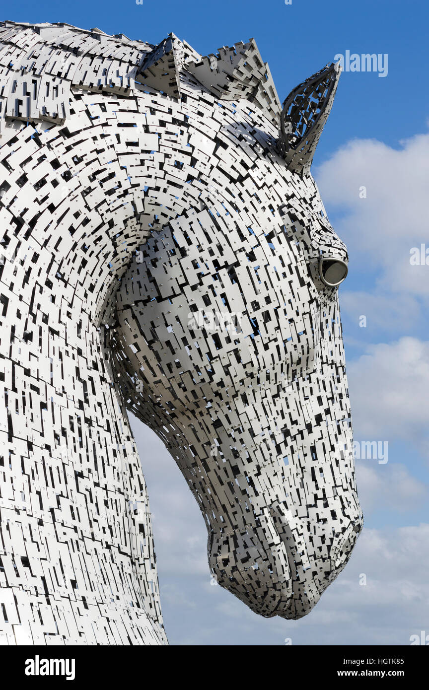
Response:
[[[254,39],[201,57],[174,34],[154,46],[125,34],[110,36],[98,28],[3,21],[0,135],[8,120],[64,124],[73,89],[127,97],[139,83],[180,98],[182,66],[215,97],[247,97],[278,124],[279,98]]]

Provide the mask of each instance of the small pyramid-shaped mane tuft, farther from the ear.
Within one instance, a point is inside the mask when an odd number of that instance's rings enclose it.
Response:
[[[152,52],[145,55],[136,74],[136,81],[141,81],[157,91],[162,91],[173,98],[180,98],[180,70],[186,60],[198,60],[201,56],[188,43],[180,41],[170,33],[166,39],[154,46]]]

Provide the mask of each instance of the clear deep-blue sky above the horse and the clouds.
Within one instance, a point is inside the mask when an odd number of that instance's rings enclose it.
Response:
[[[172,31],[202,55],[255,37],[281,99],[303,79],[346,50],[388,53],[389,73],[343,75],[339,97],[315,163],[352,137],[375,137],[397,146],[426,126],[428,8],[424,0],[183,0],[4,4],[3,19],[66,21],[97,26],[132,39],[159,43]],[[13,14],[13,16],[12,16]]]

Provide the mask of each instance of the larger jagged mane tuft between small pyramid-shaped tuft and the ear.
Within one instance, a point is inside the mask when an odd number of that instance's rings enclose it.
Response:
[[[186,63],[185,67],[218,98],[226,101],[247,98],[276,124],[279,121],[279,97],[255,39],[235,43],[231,48],[223,46],[217,55],[205,55],[199,61]]]

